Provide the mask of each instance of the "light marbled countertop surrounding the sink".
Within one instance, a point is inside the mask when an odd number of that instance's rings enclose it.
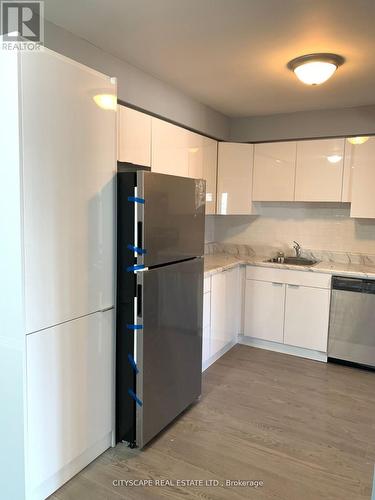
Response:
[[[353,278],[375,279],[375,266],[366,264],[340,264],[336,262],[318,262],[313,266],[293,266],[265,262],[267,257],[262,256],[235,256],[227,253],[217,253],[204,256],[204,277],[225,271],[238,265],[252,265],[259,267],[275,267],[279,269],[293,269],[303,272],[327,273],[337,276]]]

